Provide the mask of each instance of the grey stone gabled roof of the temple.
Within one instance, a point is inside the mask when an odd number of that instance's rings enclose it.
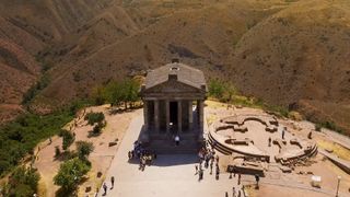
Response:
[[[202,71],[184,63],[174,62],[149,71],[145,78],[145,89],[162,84],[170,79],[176,79],[182,83],[197,89],[201,89],[202,85],[206,85],[206,79]]]

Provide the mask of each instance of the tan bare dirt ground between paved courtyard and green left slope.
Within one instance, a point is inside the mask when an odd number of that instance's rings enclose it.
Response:
[[[89,131],[92,130],[92,126],[88,125],[83,120],[83,115],[80,118],[75,118],[70,124],[77,123],[77,127],[72,127],[72,131],[75,134],[75,141],[91,141],[94,144],[94,151],[91,153],[89,160],[92,162],[92,169],[89,172],[89,178],[80,186],[79,194],[84,194],[86,187],[91,187],[92,192],[100,187],[101,179],[104,177],[105,172],[108,170],[113,160],[115,151],[119,147],[119,141],[122,139],[125,131],[127,130],[130,120],[136,115],[140,114],[140,111],[126,112],[120,114],[110,114],[109,108],[106,105],[89,107],[85,113],[89,112],[103,112],[107,121],[106,127],[98,137],[88,137]],[[117,146],[108,147],[109,142],[117,141]],[[42,181],[39,184],[39,196],[54,197],[55,193],[59,188],[52,183],[54,176],[57,174],[60,163],[62,161],[55,159],[55,147],[61,148],[62,139],[59,137],[52,138],[51,144],[49,140],[42,142],[36,150],[39,150],[35,166],[40,173]],[[74,143],[70,147],[70,150],[75,149]],[[97,172],[102,173],[101,177],[97,177]],[[80,195],[81,196],[81,195]]]

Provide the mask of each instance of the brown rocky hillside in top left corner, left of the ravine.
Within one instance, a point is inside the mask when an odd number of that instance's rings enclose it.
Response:
[[[0,123],[23,112],[23,94],[40,76],[40,51],[65,40],[110,1],[0,1]]]

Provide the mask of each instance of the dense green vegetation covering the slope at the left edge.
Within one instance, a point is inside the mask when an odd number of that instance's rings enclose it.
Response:
[[[24,114],[0,127],[0,176],[3,176],[36,144],[59,134],[73,118],[68,108],[49,115]]]

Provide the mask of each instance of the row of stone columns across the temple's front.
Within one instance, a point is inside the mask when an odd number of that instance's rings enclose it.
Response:
[[[184,101],[176,101],[177,102],[177,131],[182,132],[183,128],[183,106],[182,103]],[[188,128],[191,130],[194,128],[194,115],[192,115],[192,101],[187,101],[188,102]],[[198,113],[198,119],[199,119],[199,129],[203,129],[203,101],[199,100],[197,102],[197,113]],[[144,126],[148,128],[149,123],[148,123],[148,105],[144,104],[143,107],[143,117],[144,117]],[[171,115],[170,115],[170,101],[165,101],[165,119],[166,119],[166,132],[170,132],[170,120],[171,120]],[[154,129],[155,131],[160,130],[160,101],[154,100]]]

